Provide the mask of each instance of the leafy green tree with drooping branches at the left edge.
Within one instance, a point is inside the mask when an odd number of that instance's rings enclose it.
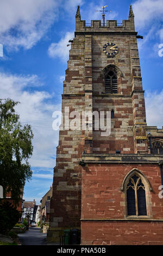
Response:
[[[20,102],[0,100],[0,185],[4,197],[18,203],[26,181],[32,178],[28,159],[33,153],[33,132],[30,125],[22,125],[14,107]]]

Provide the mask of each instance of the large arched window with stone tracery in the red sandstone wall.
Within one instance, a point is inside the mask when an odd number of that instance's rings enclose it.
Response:
[[[127,184],[127,214],[128,216],[147,215],[145,186],[137,174],[131,176]]]

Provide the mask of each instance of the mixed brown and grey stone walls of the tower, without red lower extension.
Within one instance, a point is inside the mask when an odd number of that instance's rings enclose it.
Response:
[[[129,19],[123,20],[122,26],[117,26],[117,21],[106,21],[106,26],[102,26],[101,21],[91,21],[91,26],[85,26],[78,8],[76,32],[62,94],[64,119],[54,168],[48,240],[59,241],[65,228],[80,228],[83,204],[81,164],[84,154],[93,154],[92,161],[95,161],[96,154],[101,153],[103,159],[105,154],[114,155],[116,150],[126,155],[148,153],[145,100],[136,35],[131,10]],[[106,42],[117,44],[119,51],[114,58],[107,58],[102,51]],[[107,94],[104,90],[103,72],[108,65],[116,66],[118,72],[117,94]],[[111,119],[109,136],[101,136],[101,131],[89,129],[93,127],[93,119],[85,119],[83,129],[82,112],[106,112],[112,109],[114,118]],[[65,120],[68,119],[68,125],[74,123],[76,114],[79,114],[80,129],[70,129]],[[87,179],[87,176],[83,177]],[[87,184],[84,182],[87,181],[83,180],[83,186]],[[86,204],[87,199],[83,195]],[[86,209],[83,208],[82,216],[85,216]]]

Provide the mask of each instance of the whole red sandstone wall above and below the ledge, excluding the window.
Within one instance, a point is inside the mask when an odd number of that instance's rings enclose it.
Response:
[[[126,195],[120,188],[133,168],[146,176],[153,189],[146,191],[148,220],[137,217],[133,221],[126,216]],[[82,178],[83,245],[163,245],[163,201],[158,196],[161,185],[158,165],[92,163],[83,167]]]

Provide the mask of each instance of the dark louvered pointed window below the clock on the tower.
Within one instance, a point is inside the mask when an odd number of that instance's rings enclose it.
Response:
[[[105,77],[105,93],[117,93],[117,76],[112,70]]]

